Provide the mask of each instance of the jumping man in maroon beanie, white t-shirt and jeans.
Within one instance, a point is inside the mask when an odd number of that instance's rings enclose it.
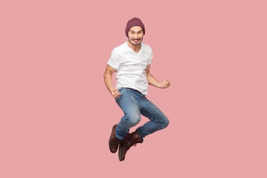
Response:
[[[164,129],[169,124],[168,118],[145,97],[148,84],[167,88],[170,81],[159,82],[150,73],[153,53],[149,45],[142,43],[145,34],[142,21],[136,17],[129,20],[125,33],[128,41],[113,49],[104,73],[106,87],[125,114],[121,121],[113,126],[109,138],[110,152],[116,153],[118,149],[120,161],[125,159],[131,146],[142,143],[146,135]],[[114,72],[116,88],[112,84]],[[140,114],[150,121],[129,133],[130,128],[141,120]]]

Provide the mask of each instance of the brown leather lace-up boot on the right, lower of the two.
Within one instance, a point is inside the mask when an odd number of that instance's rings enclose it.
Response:
[[[128,133],[118,147],[118,159],[123,161],[125,159],[126,152],[130,149],[130,147],[133,145],[136,146],[136,143],[142,142],[142,138],[138,132],[134,131],[133,133]]]

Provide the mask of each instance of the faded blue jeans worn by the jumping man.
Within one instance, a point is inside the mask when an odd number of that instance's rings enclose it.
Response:
[[[123,139],[129,133],[130,128],[140,122],[140,114],[150,120],[136,129],[142,140],[146,135],[168,126],[168,118],[145,95],[130,88],[120,88],[118,91],[121,93],[121,96],[115,98],[115,100],[124,112],[124,116],[116,128],[116,137],[118,139]]]

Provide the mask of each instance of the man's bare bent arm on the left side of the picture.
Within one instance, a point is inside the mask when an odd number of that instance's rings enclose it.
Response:
[[[112,74],[115,72],[116,70],[113,69],[111,66],[107,65],[107,68],[104,72],[104,81],[105,81],[105,85],[108,89],[108,91],[110,92],[110,94],[114,97],[114,98],[118,98],[120,97],[120,93],[118,93],[118,90],[116,90],[116,88],[113,87],[113,83],[112,83]]]

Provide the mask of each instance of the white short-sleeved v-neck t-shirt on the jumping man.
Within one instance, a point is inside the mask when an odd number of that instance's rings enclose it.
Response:
[[[149,45],[141,43],[141,49],[136,53],[127,42],[115,47],[107,62],[116,69],[116,88],[129,87],[147,95],[146,66],[151,64],[153,57]]]

